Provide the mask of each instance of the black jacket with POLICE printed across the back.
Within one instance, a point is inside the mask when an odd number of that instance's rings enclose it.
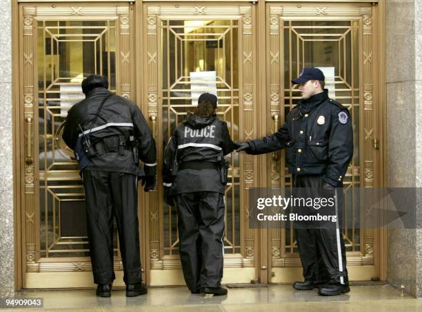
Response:
[[[179,169],[172,176],[174,159],[179,168],[183,163],[210,162],[218,164],[234,149],[227,124],[217,116],[201,118],[189,114],[173,132],[164,150],[163,185],[171,187],[170,194],[194,191],[224,192],[219,169]]]

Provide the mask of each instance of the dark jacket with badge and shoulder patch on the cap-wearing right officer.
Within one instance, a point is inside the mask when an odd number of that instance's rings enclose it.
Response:
[[[278,132],[248,142],[248,154],[287,148],[291,174],[323,174],[324,183],[341,185],[353,156],[353,130],[346,107],[328,98],[328,90],[300,101]]]

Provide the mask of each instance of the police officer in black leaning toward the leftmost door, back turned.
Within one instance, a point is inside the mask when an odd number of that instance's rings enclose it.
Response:
[[[141,284],[137,176],[143,161],[144,191],[154,189],[154,138],[139,108],[108,91],[103,76],[82,81],[86,98],[68,112],[63,140],[77,151],[86,196],[88,242],[97,295],[110,297],[113,271],[113,215],[117,219],[126,296],[147,293]],[[83,145],[83,146],[81,146]],[[138,152],[139,150],[139,152]],[[139,153],[139,156],[138,156]]]

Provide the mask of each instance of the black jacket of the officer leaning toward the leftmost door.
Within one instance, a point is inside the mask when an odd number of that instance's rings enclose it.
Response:
[[[96,87],[87,94],[86,99],[73,105],[66,118],[63,140],[68,147],[74,149],[78,137],[82,135],[79,125],[84,132],[89,132],[93,144],[101,142],[108,148],[116,142],[115,138],[119,138],[126,143],[123,154],[106,152],[90,158],[86,170],[139,175],[139,166],[135,164],[132,149],[128,145],[129,136],[133,135],[139,142],[139,159],[143,161],[145,175],[154,176],[157,169],[155,141],[148,123],[136,105],[121,96],[112,95],[104,103],[97,121],[91,125],[99,105],[110,94],[106,88]],[[112,149],[108,149],[110,150]]]

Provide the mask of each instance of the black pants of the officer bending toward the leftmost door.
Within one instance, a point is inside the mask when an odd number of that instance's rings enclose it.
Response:
[[[113,215],[117,220],[126,284],[141,282],[137,177],[106,171],[83,171],[88,242],[95,284],[110,284],[113,271]]]

